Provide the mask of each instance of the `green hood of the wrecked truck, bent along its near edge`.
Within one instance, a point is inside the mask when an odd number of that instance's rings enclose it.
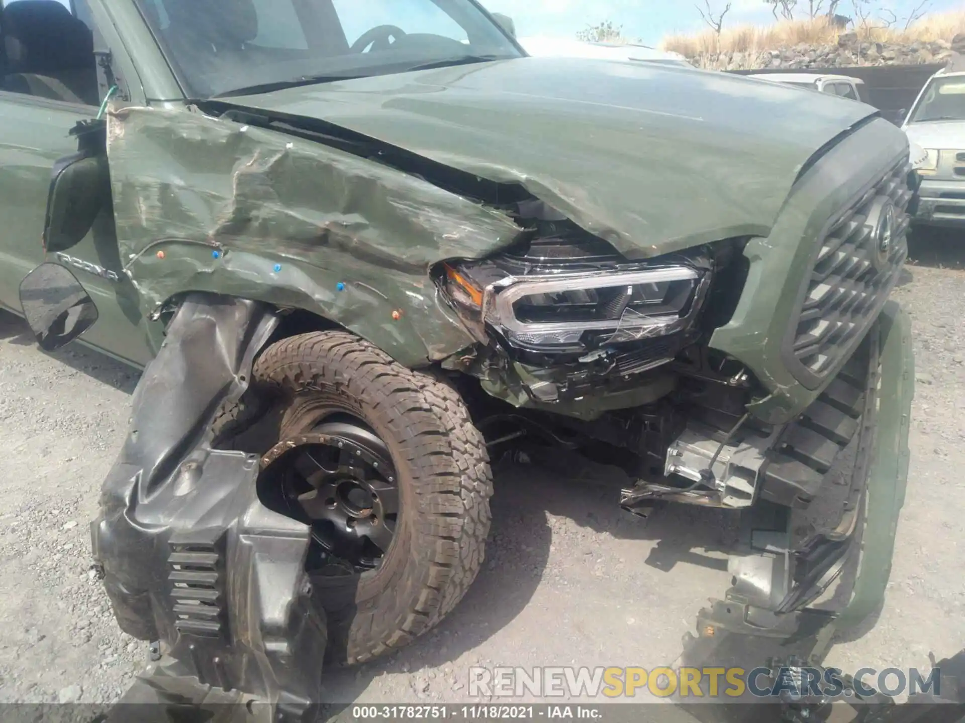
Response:
[[[232,100],[521,184],[638,257],[767,234],[813,153],[875,112],[725,73],[558,58]]]

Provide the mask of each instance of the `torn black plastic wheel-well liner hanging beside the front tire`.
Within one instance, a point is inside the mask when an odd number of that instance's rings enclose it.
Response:
[[[276,325],[255,302],[184,301],[135,391],[92,538],[121,628],[167,654],[148,681],[159,700],[234,691],[297,718],[317,701],[326,644],[310,530],[259,501],[257,456],[210,446]]]

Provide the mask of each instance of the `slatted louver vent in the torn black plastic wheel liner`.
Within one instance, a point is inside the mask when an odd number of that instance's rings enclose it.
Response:
[[[171,543],[168,581],[182,633],[217,637],[224,625],[224,575],[221,555],[206,543]]]

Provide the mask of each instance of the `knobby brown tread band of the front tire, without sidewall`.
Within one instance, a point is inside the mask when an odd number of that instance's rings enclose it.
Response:
[[[345,392],[372,401],[402,442],[419,521],[415,548],[425,554],[418,575],[394,580],[394,614],[361,606],[345,645],[345,662],[364,662],[435,626],[462,599],[479,573],[489,532],[492,474],[482,434],[455,388],[435,374],[408,369],[369,342],[345,332],[282,339],[255,363],[258,384],[283,392]],[[400,468],[397,461],[397,469]],[[410,551],[410,554],[412,552]]]

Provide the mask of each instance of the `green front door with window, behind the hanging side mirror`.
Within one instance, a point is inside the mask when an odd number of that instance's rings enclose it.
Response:
[[[88,0],[4,0],[0,306],[20,311],[20,281],[44,260],[60,263],[83,284],[99,312],[85,342],[142,365],[152,357],[152,348],[137,291],[124,275],[110,204],[69,249],[47,253],[42,242],[51,172],[60,159],[78,150],[78,138],[69,131],[78,121],[95,118],[113,87],[109,66],[102,62],[109,58],[104,38]]]

